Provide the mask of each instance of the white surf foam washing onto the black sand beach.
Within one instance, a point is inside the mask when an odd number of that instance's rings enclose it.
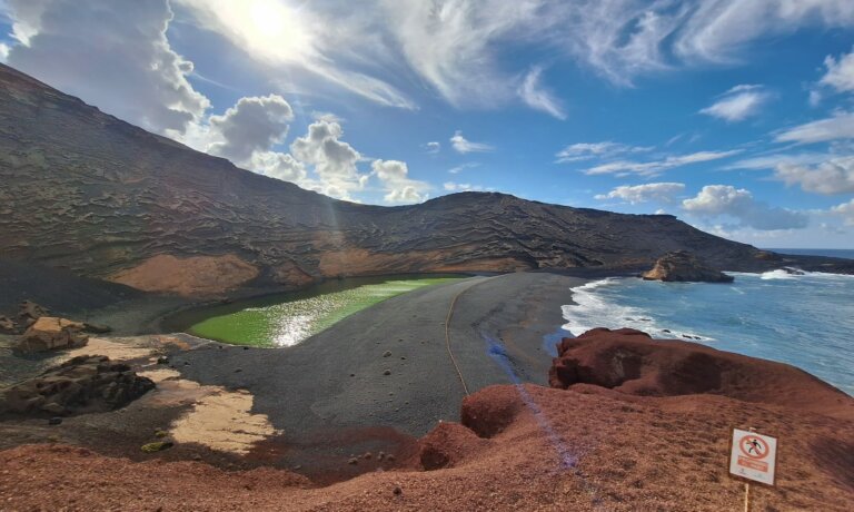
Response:
[[[643,331],[656,338],[714,341],[711,337],[662,326],[652,317],[648,311],[619,305],[602,295],[600,291],[603,288],[620,286],[624,278],[620,277],[608,277],[572,288],[573,302],[575,304],[562,306],[564,319],[567,321],[563,328],[573,333],[574,336],[578,336],[595,327],[607,327],[610,329],[630,327]]]

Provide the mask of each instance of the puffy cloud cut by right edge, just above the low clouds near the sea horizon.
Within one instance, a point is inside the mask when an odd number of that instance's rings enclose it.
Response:
[[[854,157],[830,158],[816,166],[779,164],[774,171],[776,179],[786,185],[800,185],[806,191],[817,194],[854,193]]]

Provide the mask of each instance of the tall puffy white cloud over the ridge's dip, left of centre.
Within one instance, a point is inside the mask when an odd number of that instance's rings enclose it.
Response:
[[[339,199],[351,200],[351,193],[363,190],[368,175],[359,173],[356,164],[361,154],[339,140],[344,129],[338,122],[318,120],[309,125],[308,134],[290,145],[290,152],[300,161],[314,166],[318,183],[309,188]]]

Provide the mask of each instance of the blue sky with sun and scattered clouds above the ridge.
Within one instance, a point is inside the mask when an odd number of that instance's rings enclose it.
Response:
[[[0,61],[340,199],[854,248],[851,0],[0,0]]]

